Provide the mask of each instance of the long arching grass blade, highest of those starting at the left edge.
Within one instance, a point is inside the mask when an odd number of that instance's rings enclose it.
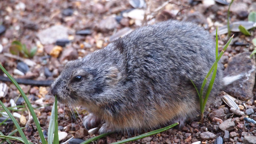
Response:
[[[33,120],[36,124],[36,128],[37,128],[37,131],[39,133],[39,136],[41,138],[41,141],[42,141],[42,144],[46,144],[46,141],[44,139],[44,134],[42,132],[42,129],[41,129],[41,126],[39,124],[39,121],[36,117],[36,114],[34,112],[34,109],[33,107],[31,106],[29,100],[28,100],[28,97],[25,95],[25,93],[22,91],[22,89],[20,88],[20,85],[14,80],[14,78],[4,69],[4,67],[0,64],[0,69],[9,77],[9,79],[12,81],[12,83],[17,87],[17,89],[19,90],[21,96],[23,97],[23,99],[25,100],[25,103],[27,104],[28,106],[28,109],[33,117]]]

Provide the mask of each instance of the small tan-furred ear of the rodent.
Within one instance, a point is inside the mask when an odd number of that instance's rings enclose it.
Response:
[[[116,84],[121,78],[120,71],[116,67],[110,67],[106,70],[106,72],[107,74],[105,76],[105,79],[108,84]]]

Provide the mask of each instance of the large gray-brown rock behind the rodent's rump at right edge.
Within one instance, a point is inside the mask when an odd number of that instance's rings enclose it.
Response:
[[[228,60],[228,67],[224,70],[224,76],[239,76],[241,78],[228,84],[225,88],[228,94],[248,100],[253,97],[253,86],[255,83],[255,60],[250,58],[250,52],[243,52]]]

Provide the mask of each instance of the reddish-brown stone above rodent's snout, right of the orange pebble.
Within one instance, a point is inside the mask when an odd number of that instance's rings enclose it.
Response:
[[[63,60],[75,60],[77,59],[78,56],[78,52],[76,49],[74,49],[73,47],[64,49],[64,51],[62,52],[61,56],[60,56],[60,61]]]

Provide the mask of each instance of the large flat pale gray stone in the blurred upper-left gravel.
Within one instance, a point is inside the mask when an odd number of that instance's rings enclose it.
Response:
[[[68,28],[62,25],[55,25],[37,33],[42,44],[53,44],[58,39],[68,39]]]

